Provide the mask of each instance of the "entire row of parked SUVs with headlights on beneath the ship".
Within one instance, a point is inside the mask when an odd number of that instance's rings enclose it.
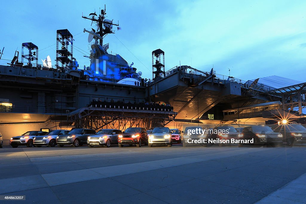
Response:
[[[73,147],[79,147],[82,145],[88,145],[90,147],[118,145],[124,147],[124,145],[141,147],[148,145],[152,147],[154,145],[164,145],[171,147],[172,143],[181,143],[183,141],[183,147],[192,145],[188,143],[188,139],[208,139],[216,141],[219,140],[231,140],[231,139],[253,139],[254,144],[274,143],[282,144],[285,142],[288,146],[293,146],[294,143],[306,143],[306,128],[300,124],[290,125],[275,125],[269,127],[264,125],[249,126],[245,128],[233,128],[232,126],[221,126],[207,129],[211,132],[202,134],[193,134],[192,129],[200,129],[198,133],[203,132],[202,127],[187,127],[185,132],[181,132],[178,129],[169,129],[166,127],[154,128],[153,130],[145,130],[144,128],[127,128],[124,132],[117,129],[102,129],[99,132],[95,132],[92,129],[76,128],[71,131],[68,130],[52,130],[50,132],[43,131],[28,131],[23,135],[12,137],[9,141],[10,145],[14,148],[25,145],[27,147],[41,147],[43,145],[49,147],[63,147],[64,145],[71,145]],[[222,132],[227,130],[226,133],[216,134],[216,132]],[[2,136],[0,134],[0,148],[2,147]],[[222,146],[222,143],[205,143],[203,145],[218,144]]]

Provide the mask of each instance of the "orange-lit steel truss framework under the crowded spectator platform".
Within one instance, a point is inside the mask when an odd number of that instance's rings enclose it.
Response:
[[[153,127],[165,126],[173,121],[175,112],[123,110],[107,108],[81,108],[69,114],[68,119],[75,121],[76,128],[125,130],[129,127],[143,127],[147,130]]]

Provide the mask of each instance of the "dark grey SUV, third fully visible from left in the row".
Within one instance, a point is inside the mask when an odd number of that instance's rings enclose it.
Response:
[[[56,143],[58,147],[64,147],[64,145],[72,145],[72,147],[79,147],[83,144],[87,144],[87,138],[90,135],[95,135],[95,130],[92,129],[73,129],[66,135],[58,135],[56,137]]]

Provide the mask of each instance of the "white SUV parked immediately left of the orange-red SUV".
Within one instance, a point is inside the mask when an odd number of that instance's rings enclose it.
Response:
[[[122,134],[121,130],[117,129],[103,129],[97,132],[95,135],[89,135],[87,138],[87,144],[90,147],[94,146],[106,146],[110,147],[112,144],[118,145],[118,135]]]

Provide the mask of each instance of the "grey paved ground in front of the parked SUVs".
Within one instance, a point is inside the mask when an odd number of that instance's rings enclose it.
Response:
[[[0,203],[306,203],[306,146],[4,147]]]

